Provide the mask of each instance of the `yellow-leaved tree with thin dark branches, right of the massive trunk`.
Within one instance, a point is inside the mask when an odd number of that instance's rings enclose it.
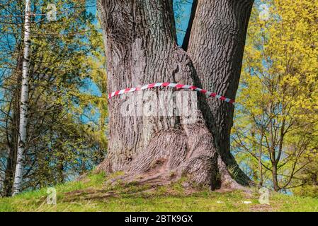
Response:
[[[233,145],[261,186],[280,191],[302,186],[304,172],[315,172],[318,5],[269,4],[266,20],[257,9],[251,17]]]

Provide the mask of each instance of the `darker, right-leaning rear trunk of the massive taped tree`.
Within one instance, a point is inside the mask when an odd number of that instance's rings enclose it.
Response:
[[[188,44],[198,86],[235,99],[253,3],[254,0],[198,1]],[[230,153],[234,106],[203,97],[200,109],[220,147],[222,160],[240,182],[249,182]]]

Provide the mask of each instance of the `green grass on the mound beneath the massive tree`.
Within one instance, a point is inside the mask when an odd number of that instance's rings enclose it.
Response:
[[[106,185],[103,174],[55,187],[57,205],[46,203],[47,189],[0,198],[1,211],[318,211],[318,199],[272,193],[270,205],[259,204],[259,194],[239,191],[184,190],[169,186]],[[246,204],[243,201],[251,201]]]

